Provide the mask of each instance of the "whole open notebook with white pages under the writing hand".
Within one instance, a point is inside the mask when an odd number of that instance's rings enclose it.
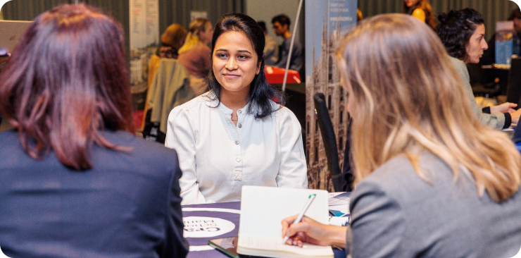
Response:
[[[305,215],[327,224],[325,190],[244,186],[237,252],[262,257],[334,257],[329,246],[305,243],[303,247],[296,247],[282,243],[282,219],[299,214],[313,194],[317,197]]]

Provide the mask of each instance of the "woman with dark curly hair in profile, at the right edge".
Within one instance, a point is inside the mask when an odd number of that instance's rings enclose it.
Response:
[[[482,15],[474,9],[465,8],[460,11],[449,11],[438,16],[439,25],[436,29],[438,37],[456,70],[460,73],[465,83],[465,93],[472,105],[472,111],[482,123],[501,130],[508,128],[511,123],[517,123],[521,116],[521,109],[515,111],[517,104],[503,103],[491,106],[489,109],[479,109],[477,106],[467,63],[479,63],[483,51],[488,49],[485,41],[485,25]]]

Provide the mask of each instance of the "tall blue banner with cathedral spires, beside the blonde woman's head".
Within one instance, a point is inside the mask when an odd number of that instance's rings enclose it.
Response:
[[[335,60],[337,42],[356,25],[356,0],[306,1],[306,161],[309,188],[334,192],[320,135],[313,95],[322,92],[337,140],[340,168],[347,125],[346,92]]]

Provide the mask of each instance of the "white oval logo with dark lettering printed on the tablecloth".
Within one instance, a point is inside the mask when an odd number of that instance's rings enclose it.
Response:
[[[212,238],[233,231],[235,224],[231,221],[210,217],[184,217],[185,238]]]

